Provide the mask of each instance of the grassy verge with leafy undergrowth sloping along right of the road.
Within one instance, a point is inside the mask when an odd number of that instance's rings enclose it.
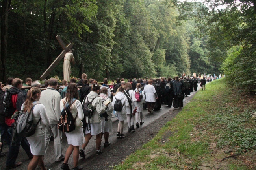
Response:
[[[115,170],[256,169],[256,100],[225,79],[198,91],[178,115]]]

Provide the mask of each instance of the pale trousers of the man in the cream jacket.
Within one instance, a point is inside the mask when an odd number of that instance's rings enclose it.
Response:
[[[45,153],[47,152],[48,144],[52,134],[54,135],[54,153],[55,161],[59,161],[63,158],[62,155],[62,132],[58,130],[57,124],[50,124],[45,127]]]

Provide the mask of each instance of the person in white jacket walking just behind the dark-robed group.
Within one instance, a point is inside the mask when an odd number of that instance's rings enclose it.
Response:
[[[156,94],[155,87],[152,85],[152,80],[148,80],[148,85],[144,87],[144,93],[146,96],[146,104],[149,113],[153,113],[153,108],[155,106],[156,99],[158,95]]]

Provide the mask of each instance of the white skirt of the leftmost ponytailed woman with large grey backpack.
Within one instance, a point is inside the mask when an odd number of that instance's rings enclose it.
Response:
[[[45,155],[45,135],[37,137],[26,137],[30,144],[30,152],[35,156]]]

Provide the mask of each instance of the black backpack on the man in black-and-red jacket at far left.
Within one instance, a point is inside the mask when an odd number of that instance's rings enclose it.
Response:
[[[6,92],[4,94],[4,114],[6,117],[11,117],[13,113],[15,112],[15,108],[13,107],[13,102],[11,101],[12,94],[10,92],[10,89],[6,89]]]

